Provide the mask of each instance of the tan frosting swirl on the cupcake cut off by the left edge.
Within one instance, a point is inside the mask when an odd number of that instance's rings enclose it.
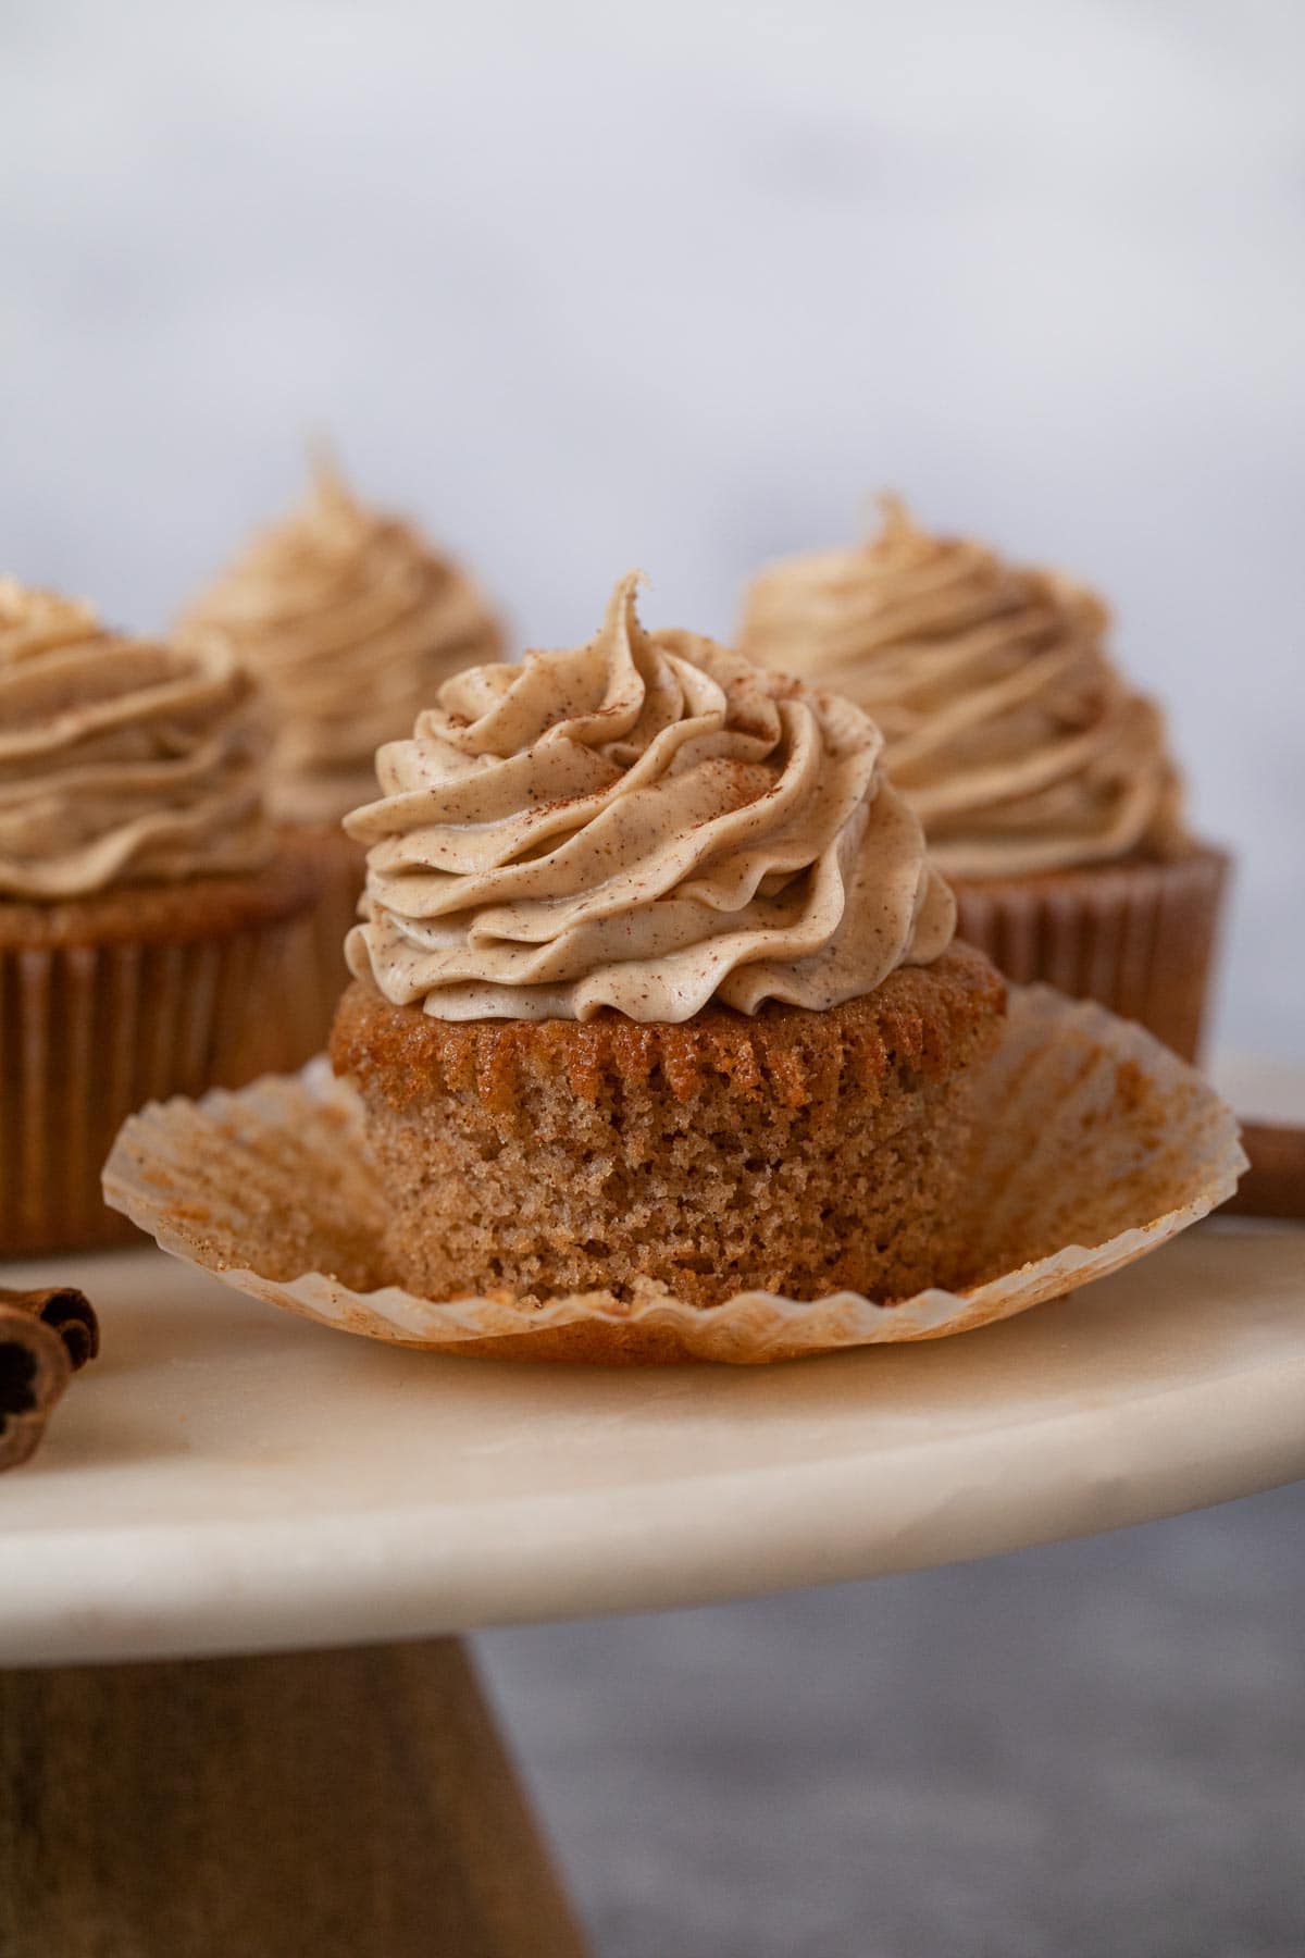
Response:
[[[223,640],[125,638],[0,580],[0,899],[258,869],[262,748]]]

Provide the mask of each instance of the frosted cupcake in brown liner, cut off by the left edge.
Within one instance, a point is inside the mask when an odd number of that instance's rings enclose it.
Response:
[[[0,1251],[127,1226],[100,1165],[149,1098],[303,1059],[317,871],[276,850],[229,644],[104,630],[0,580]]]

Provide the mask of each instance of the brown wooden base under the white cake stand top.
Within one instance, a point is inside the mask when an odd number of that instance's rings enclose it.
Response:
[[[581,1958],[430,1645],[0,1674],[2,1958]]]

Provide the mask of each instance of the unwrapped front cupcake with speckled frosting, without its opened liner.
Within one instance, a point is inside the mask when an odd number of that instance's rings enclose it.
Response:
[[[945,1281],[1004,987],[855,705],[689,632],[446,681],[378,754],[331,1057],[425,1298]]]

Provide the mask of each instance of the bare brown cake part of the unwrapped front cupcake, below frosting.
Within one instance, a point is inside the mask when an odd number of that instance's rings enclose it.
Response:
[[[1002,1008],[963,946],[826,1012],[681,1026],[454,1024],[356,983],[333,1061],[362,1095],[387,1259],[427,1298],[902,1298],[951,1277]]]

